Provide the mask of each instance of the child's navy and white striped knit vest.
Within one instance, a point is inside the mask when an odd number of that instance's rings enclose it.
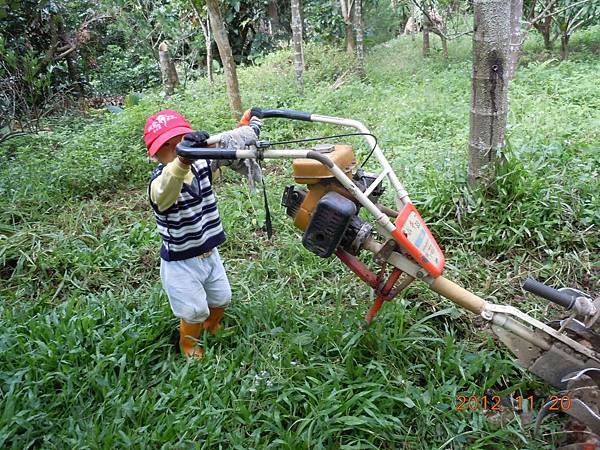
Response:
[[[165,167],[160,164],[154,170],[148,186],[150,204],[163,240],[161,258],[165,261],[193,258],[225,242],[225,232],[211,187],[212,173],[207,161],[200,159],[190,166],[191,183],[183,183],[175,203],[160,211],[152,201],[150,186]]]

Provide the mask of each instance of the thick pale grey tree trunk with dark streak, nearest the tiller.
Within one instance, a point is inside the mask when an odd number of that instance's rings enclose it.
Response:
[[[504,146],[508,113],[510,2],[474,0],[473,77],[468,177],[489,183]]]

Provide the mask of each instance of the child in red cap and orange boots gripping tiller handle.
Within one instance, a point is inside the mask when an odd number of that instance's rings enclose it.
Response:
[[[247,134],[248,127],[242,128]],[[259,127],[252,130],[258,132]],[[148,186],[163,240],[160,277],[173,314],[180,319],[181,352],[202,358],[204,351],[197,344],[200,332],[215,333],[220,328],[231,287],[217,250],[225,242],[225,233],[211,188],[210,162],[177,156],[175,147],[183,136],[199,147],[207,146],[209,137],[206,132],[193,133],[189,122],[170,109],[146,121],[148,155],[160,163]]]

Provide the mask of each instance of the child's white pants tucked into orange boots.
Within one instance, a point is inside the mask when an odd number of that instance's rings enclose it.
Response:
[[[231,286],[216,248],[204,259],[161,259],[160,279],[173,314],[189,323],[204,322],[209,307],[225,307],[231,302]]]

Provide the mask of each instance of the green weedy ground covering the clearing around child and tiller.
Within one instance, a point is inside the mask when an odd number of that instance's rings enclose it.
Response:
[[[364,121],[438,237],[446,275],[485,298],[546,319],[560,311],[520,289],[527,275],[598,293],[600,28],[576,34],[563,62],[527,42],[508,162],[483,193],[464,181],[470,40],[452,42],[447,61],[422,59],[418,44],[372,49],[365,81],[344,54],[308,46],[304,97],[291,54],[270,55],[240,70],[245,105]],[[234,299],[225,331],[203,337],[205,359],[182,359],[141,134],[163,107],[199,129],[232,128],[223,85],[66,115],[0,148],[0,446],[553,448],[564,419],[534,436],[510,406],[457,410],[458,395],[533,394],[539,407],[552,392],[469,314],[415,285],[360,327],[369,290],[305,250],[278,206],[285,163],[265,164],[271,240],[261,196],[226,171],[215,183]],[[269,121],[263,136],[339,131]]]

